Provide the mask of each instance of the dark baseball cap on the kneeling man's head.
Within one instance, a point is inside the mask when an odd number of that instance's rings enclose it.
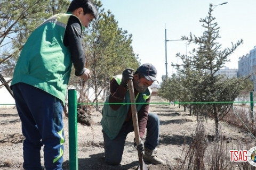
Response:
[[[143,75],[148,81],[157,81],[156,79],[156,67],[150,63],[145,63],[139,66],[137,69],[141,75]],[[157,81],[158,82],[158,81]]]

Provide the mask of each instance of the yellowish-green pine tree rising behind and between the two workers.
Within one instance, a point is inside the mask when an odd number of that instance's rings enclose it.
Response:
[[[87,84],[94,89],[97,103],[101,90],[108,91],[111,76],[122,74],[127,67],[135,70],[139,62],[133,52],[132,35],[118,27],[115,16],[110,10],[105,12],[100,1],[95,4],[99,7],[99,18],[85,30],[84,50],[85,67],[92,75]]]

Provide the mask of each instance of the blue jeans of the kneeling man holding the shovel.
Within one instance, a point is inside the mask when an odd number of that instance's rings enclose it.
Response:
[[[147,135],[144,147],[154,150],[158,146],[159,137],[159,118],[156,114],[148,114],[146,128]],[[134,131],[132,120],[123,124],[120,132],[113,140],[111,140],[108,135],[102,131],[105,148],[105,160],[107,164],[119,165],[121,163],[126,136],[132,131]]]

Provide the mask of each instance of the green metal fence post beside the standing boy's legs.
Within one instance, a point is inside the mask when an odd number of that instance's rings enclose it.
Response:
[[[68,90],[69,169],[78,170],[76,90]]]

